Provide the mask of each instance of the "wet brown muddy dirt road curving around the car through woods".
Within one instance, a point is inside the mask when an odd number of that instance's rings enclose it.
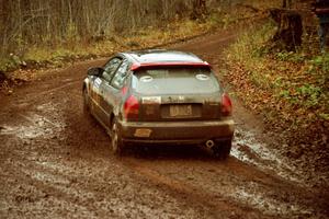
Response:
[[[171,48],[215,67],[232,35]],[[273,147],[275,134],[235,100],[227,161],[191,147],[135,149],[122,159],[82,114],[78,62],[0,96],[0,218],[328,218],[328,173],[302,168]]]

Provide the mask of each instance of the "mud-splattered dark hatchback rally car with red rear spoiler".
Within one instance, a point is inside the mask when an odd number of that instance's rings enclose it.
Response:
[[[84,112],[111,136],[115,154],[134,145],[202,145],[229,155],[234,137],[231,101],[211,66],[173,50],[120,53],[88,70]]]

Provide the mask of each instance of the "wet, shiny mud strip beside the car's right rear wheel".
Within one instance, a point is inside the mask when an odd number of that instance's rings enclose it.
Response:
[[[306,176],[288,163],[274,149],[257,140],[252,131],[236,129],[236,138],[230,154],[242,162],[251,163],[261,170],[271,170],[279,176],[296,183],[306,182]]]

